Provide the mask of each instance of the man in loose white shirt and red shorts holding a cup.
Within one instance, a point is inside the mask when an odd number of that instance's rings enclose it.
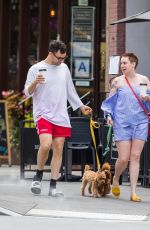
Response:
[[[76,93],[70,71],[64,64],[66,57],[66,45],[59,40],[51,41],[48,56],[29,69],[25,83],[25,94],[33,97],[33,117],[40,140],[37,172],[31,184],[33,194],[41,193],[43,169],[52,146],[49,195],[63,195],[56,190],[56,182],[62,163],[64,141],[71,135],[67,100],[73,110],[80,108],[86,115],[92,111],[83,105]]]

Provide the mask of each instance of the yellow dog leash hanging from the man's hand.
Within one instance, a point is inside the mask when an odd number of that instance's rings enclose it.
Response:
[[[100,171],[101,165],[100,165],[98,152],[97,152],[97,148],[96,148],[96,138],[95,138],[94,128],[98,129],[99,127],[100,127],[100,123],[97,122],[97,121],[93,121],[92,114],[91,114],[91,116],[90,116],[90,130],[91,130],[92,140],[93,140],[93,144],[94,144],[94,148],[95,148],[95,152],[96,152],[96,160],[97,160],[98,171]]]

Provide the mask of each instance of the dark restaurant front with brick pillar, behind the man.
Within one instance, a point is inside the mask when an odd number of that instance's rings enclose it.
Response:
[[[125,50],[125,25],[110,22],[125,15],[126,0],[0,0],[0,92],[22,91],[29,67],[46,57],[51,39],[61,39],[74,84],[81,96],[92,92],[99,116],[109,57]]]

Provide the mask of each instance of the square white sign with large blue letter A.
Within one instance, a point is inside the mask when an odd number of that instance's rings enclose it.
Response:
[[[90,59],[75,59],[75,77],[89,77]]]

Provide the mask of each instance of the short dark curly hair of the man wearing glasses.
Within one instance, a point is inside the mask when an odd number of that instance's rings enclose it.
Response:
[[[64,42],[60,40],[52,40],[49,43],[49,52],[56,53],[59,51],[63,54],[66,53],[67,47]]]

